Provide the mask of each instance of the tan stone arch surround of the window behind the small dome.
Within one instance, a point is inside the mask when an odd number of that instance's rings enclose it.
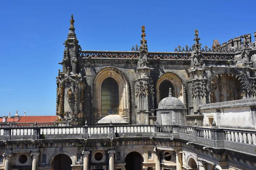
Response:
[[[157,79],[157,83],[156,83],[157,105],[160,102],[160,85],[164,81],[169,81],[172,83],[174,87],[174,89],[172,89],[174,91],[173,96],[180,99],[184,104],[184,99],[183,99],[184,89],[183,89],[183,83],[181,79],[172,72],[166,72],[164,74],[161,74],[160,77]],[[166,93],[168,94],[169,90]]]

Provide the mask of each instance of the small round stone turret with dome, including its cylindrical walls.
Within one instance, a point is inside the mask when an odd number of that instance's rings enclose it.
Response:
[[[159,125],[185,125],[183,102],[172,96],[172,88],[169,88],[169,96],[159,102],[156,111]]]

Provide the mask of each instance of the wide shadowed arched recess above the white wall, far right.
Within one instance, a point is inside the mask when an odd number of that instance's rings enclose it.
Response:
[[[211,81],[210,103],[241,99],[240,81],[233,74],[218,74]]]

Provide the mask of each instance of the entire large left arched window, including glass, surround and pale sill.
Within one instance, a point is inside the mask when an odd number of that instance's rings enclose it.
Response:
[[[131,121],[130,85],[125,74],[115,67],[102,68],[93,77],[92,85],[93,124],[109,124],[111,121],[128,124]]]

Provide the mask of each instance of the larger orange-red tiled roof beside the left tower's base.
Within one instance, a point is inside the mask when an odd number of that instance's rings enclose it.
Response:
[[[28,122],[55,122],[57,116],[20,116],[19,123]],[[8,122],[8,120],[7,120]]]

